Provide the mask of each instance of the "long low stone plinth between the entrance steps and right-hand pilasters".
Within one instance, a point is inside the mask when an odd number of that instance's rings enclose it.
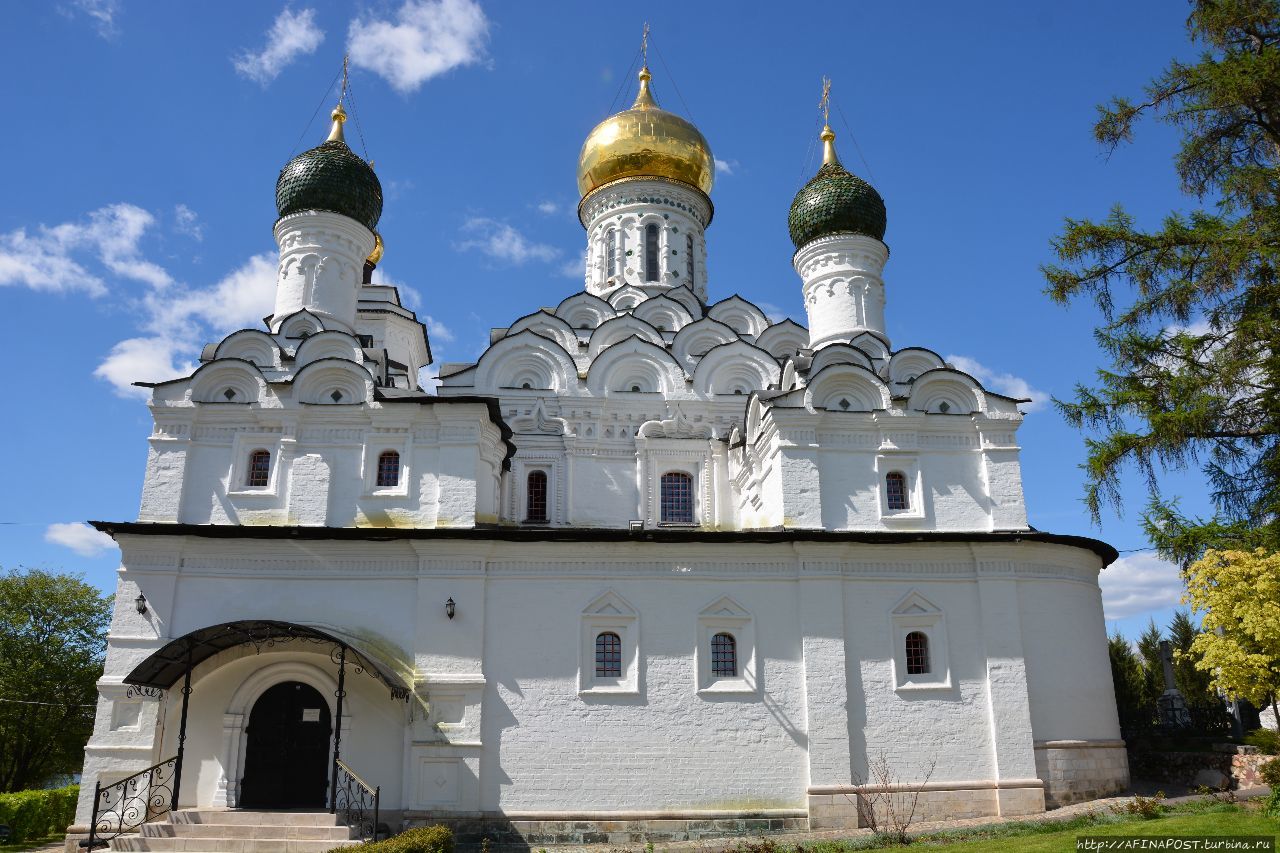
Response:
[[[458,816],[406,812],[404,826],[440,824],[453,830],[465,848],[488,839],[492,848],[550,844],[648,844],[696,841],[724,835],[803,833],[809,829],[804,809],[691,813],[545,813]]]

